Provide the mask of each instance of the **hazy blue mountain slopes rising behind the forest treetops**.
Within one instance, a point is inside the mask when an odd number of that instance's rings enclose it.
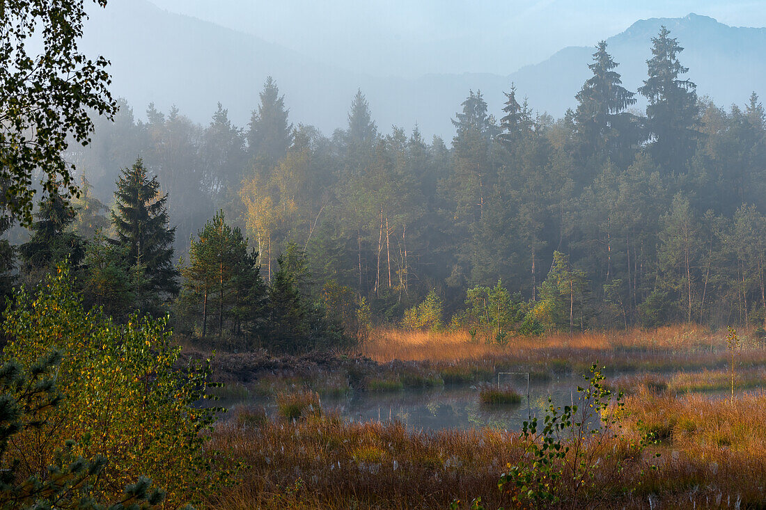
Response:
[[[759,58],[766,51],[766,29],[733,28],[699,15],[637,21],[607,40],[630,90],[646,75],[650,38],[660,25],[686,47],[680,59],[701,95],[709,94],[725,106],[745,103],[753,90],[766,95],[766,64]],[[94,11],[82,46],[112,60],[113,91],[129,100],[139,115],[153,101],[161,110],[175,104],[195,121],[208,123],[220,101],[234,123],[245,126],[271,74],[286,96],[294,123],[313,124],[327,134],[344,127],[360,87],[381,131],[388,132],[392,124],[409,130],[417,122],[427,136],[447,139],[453,133],[450,117],[469,89],[482,90],[497,113],[502,90],[513,81],[535,110],[561,116],[575,105],[593,53],[590,47],[567,47],[507,77],[372,77],[330,67],[250,34],[163,11],[146,0],[111,0],[106,10]]]

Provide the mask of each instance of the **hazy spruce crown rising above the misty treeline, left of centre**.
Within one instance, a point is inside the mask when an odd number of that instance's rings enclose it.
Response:
[[[287,119],[284,96],[280,96],[277,82],[267,77],[264,90],[259,93],[260,104],[250,117],[247,145],[250,155],[278,162],[293,142],[293,125]]]

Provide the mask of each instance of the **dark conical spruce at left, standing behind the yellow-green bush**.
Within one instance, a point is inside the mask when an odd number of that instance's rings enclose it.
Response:
[[[149,179],[139,158],[117,179],[112,223],[117,242],[127,247],[125,265],[144,266],[146,292],[139,301],[156,304],[163,296],[178,293],[178,271],[173,267],[175,227],[169,227],[168,195],[160,192],[157,177]],[[150,306],[151,307],[151,306]]]

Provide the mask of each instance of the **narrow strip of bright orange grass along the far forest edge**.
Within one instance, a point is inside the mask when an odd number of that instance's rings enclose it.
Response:
[[[382,363],[403,361],[463,361],[502,357],[512,353],[568,349],[580,351],[673,350],[710,351],[725,348],[725,332],[699,326],[675,325],[652,331],[630,329],[616,332],[582,332],[568,335],[516,336],[506,345],[472,342],[468,332],[419,332],[376,329],[361,354]],[[746,338],[746,337],[745,337]],[[745,348],[755,342],[746,342]]]

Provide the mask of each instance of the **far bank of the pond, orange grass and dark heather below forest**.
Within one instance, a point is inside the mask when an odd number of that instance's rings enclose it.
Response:
[[[738,387],[758,387],[766,367],[766,348],[742,335],[735,360]],[[205,351],[187,348],[190,358]],[[349,355],[311,353],[270,356],[265,351],[219,352],[213,361],[217,390],[227,400],[274,397],[313,391],[339,397],[351,391],[395,393],[451,384],[482,384],[500,371],[529,371],[532,381],[560,374],[584,374],[598,360],[611,374],[658,374],[658,384],[674,391],[717,391],[728,387],[731,355],[725,332],[683,326],[653,331],[585,332],[575,335],[518,337],[507,345],[471,342],[466,332],[404,332],[378,329]],[[668,374],[676,372],[672,380]],[[631,383],[620,383],[630,385]]]

